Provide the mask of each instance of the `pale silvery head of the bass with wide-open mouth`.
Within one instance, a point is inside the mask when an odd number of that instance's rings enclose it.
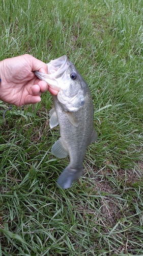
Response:
[[[49,87],[58,90],[57,98],[65,111],[74,112],[84,104],[87,84],[66,55],[51,60],[48,64],[48,73],[35,74],[48,83]]]

